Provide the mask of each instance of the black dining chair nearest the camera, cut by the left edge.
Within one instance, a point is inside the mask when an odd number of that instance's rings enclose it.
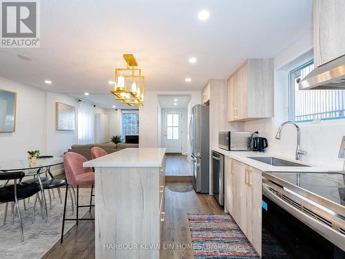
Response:
[[[17,184],[17,180],[21,180],[24,175],[24,172],[0,173],[0,180],[14,180],[14,184],[6,185],[0,188],[0,202],[15,202],[21,230],[21,242],[24,242],[24,234],[18,201],[29,198],[35,194],[38,196],[38,192],[41,191],[39,184]]]

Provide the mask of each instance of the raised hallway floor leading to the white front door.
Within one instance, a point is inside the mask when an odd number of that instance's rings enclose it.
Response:
[[[166,153],[166,175],[192,175],[187,155]]]

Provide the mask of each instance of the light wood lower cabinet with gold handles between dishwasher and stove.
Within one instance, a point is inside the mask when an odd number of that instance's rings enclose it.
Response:
[[[262,254],[262,172],[226,157],[224,207]]]

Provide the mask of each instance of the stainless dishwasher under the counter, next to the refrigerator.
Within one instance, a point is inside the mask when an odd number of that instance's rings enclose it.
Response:
[[[212,151],[213,195],[220,205],[224,205],[224,155]]]

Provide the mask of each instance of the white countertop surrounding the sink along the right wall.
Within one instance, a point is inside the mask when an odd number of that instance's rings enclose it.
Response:
[[[233,158],[248,166],[253,166],[256,169],[264,172],[339,172],[342,169],[332,166],[315,166],[313,164],[308,164],[303,161],[291,160],[286,157],[277,156],[270,153],[262,152],[248,152],[248,151],[226,151],[221,148],[213,148],[214,151]],[[259,162],[257,160],[250,159],[248,157],[277,157],[280,159],[288,160],[291,162],[297,162],[299,164],[306,164],[308,166],[272,166],[270,164],[265,164],[264,162]]]

